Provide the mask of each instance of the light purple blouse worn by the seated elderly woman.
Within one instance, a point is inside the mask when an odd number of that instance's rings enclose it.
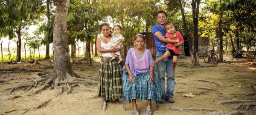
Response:
[[[134,76],[140,73],[146,73],[149,71],[150,66],[154,66],[150,50],[145,49],[142,55],[138,55],[135,48],[129,49],[125,64],[129,65],[131,73]]]

